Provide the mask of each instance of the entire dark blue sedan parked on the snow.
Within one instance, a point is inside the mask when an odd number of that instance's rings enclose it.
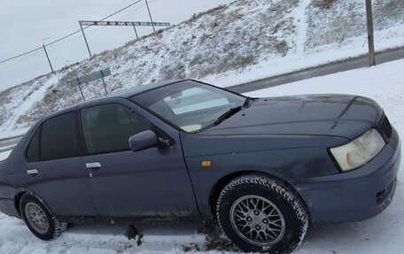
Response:
[[[368,98],[167,81],[40,120],[0,165],[0,211],[43,240],[83,218],[217,219],[241,250],[286,253],[309,223],[382,212],[399,165]]]

